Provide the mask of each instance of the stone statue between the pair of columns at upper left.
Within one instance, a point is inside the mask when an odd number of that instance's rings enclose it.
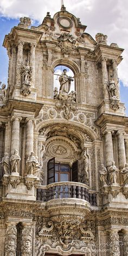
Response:
[[[31,75],[32,75],[32,70],[31,67],[28,64],[28,61],[25,62],[25,65],[21,67],[21,74],[22,74],[22,86],[31,85]]]

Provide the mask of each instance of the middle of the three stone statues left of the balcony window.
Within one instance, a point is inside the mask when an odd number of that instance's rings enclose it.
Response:
[[[18,172],[18,164],[21,161],[21,157],[18,155],[18,151],[15,149],[14,155],[10,156],[10,171]]]

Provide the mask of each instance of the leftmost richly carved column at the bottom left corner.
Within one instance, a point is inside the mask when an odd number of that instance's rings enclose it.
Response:
[[[5,233],[5,256],[16,256],[17,228],[15,223],[7,223]]]

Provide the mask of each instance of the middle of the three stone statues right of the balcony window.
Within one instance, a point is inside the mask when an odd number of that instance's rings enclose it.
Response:
[[[117,179],[118,179],[119,170],[116,167],[114,161],[112,162],[111,167],[108,168],[108,174],[109,174],[109,177],[110,177],[110,183],[111,184],[113,184],[113,183],[117,184],[118,183]]]

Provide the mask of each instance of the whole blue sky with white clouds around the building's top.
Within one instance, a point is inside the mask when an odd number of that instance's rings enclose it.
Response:
[[[86,32],[95,38],[95,34],[101,32],[108,36],[108,44],[114,42],[119,47],[125,48],[124,60],[120,63],[118,74],[120,79],[120,98],[125,103],[128,116],[128,1],[107,0],[64,0],[66,8],[76,17],[80,17],[82,24],[87,25]],[[0,0],[0,81],[7,84],[8,79],[8,55],[2,47],[5,34],[19,23],[19,18],[29,16],[34,25],[42,23],[47,11],[53,16],[60,10],[60,0]],[[116,4],[115,4],[116,3]],[[122,82],[121,82],[122,81]]]

